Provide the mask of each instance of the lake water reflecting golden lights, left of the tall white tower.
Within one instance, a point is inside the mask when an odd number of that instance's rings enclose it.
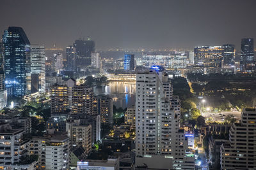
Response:
[[[117,108],[127,108],[135,104],[136,84],[130,82],[110,82],[109,85],[94,87],[95,95],[109,94]]]

